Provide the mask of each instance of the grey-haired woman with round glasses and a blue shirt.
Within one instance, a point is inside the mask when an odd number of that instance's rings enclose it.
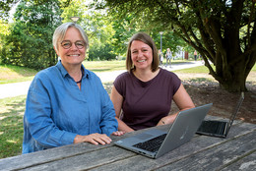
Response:
[[[96,74],[82,62],[89,47],[83,28],[56,28],[53,47],[61,60],[36,74],[24,115],[23,153],[70,143],[110,143],[121,136],[113,104]]]

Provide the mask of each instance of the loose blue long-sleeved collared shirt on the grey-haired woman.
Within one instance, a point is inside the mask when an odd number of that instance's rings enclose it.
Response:
[[[82,67],[81,89],[60,61],[36,74],[26,102],[23,153],[73,143],[76,135],[109,136],[117,130],[107,92],[96,74]]]

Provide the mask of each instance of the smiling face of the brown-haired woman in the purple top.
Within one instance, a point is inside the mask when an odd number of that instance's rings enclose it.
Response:
[[[153,51],[148,44],[134,40],[131,44],[131,58],[136,70],[151,70]]]

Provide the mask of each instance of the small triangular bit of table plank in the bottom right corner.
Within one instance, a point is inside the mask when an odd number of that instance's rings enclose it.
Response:
[[[224,171],[233,171],[233,170],[254,171],[255,168],[256,168],[256,151],[228,165],[223,170]]]

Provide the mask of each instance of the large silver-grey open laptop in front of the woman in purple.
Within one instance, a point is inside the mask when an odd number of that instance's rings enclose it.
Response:
[[[114,143],[139,154],[158,158],[181,144],[189,142],[212,105],[213,103],[210,103],[180,111],[167,133],[156,128]]]

